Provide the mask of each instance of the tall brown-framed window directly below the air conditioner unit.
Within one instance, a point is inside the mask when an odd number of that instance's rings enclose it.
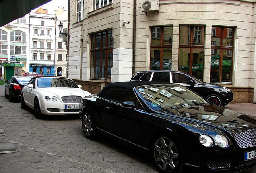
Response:
[[[151,28],[151,70],[171,70],[173,27]]]

